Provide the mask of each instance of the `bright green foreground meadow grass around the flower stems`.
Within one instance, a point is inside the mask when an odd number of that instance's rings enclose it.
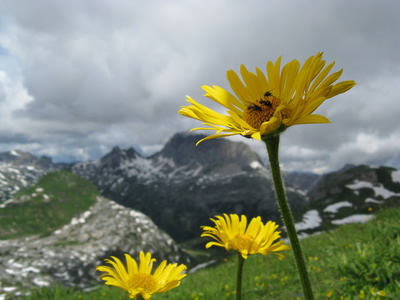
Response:
[[[344,225],[302,240],[315,299],[400,299],[400,208],[388,208],[366,224]],[[222,248],[220,251],[224,251]],[[181,286],[152,299],[234,299],[236,255],[189,274]],[[25,299],[129,299],[102,284],[91,292],[54,287]],[[244,264],[243,299],[302,299],[291,252],[254,255]]]

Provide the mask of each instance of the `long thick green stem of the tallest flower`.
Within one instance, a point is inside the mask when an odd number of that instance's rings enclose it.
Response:
[[[314,297],[311,288],[310,278],[307,272],[303,250],[301,249],[300,241],[297,236],[296,228],[294,226],[292,212],[286,199],[285,189],[283,187],[282,175],[279,166],[279,134],[264,138],[264,142],[267,145],[276,198],[278,200],[282,219],[285,223],[286,230],[290,239],[290,244],[296,261],[297,271],[299,272],[301,285],[303,287],[304,298],[307,300],[312,300],[314,299]]]

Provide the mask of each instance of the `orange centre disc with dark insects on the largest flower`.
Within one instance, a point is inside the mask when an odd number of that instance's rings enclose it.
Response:
[[[255,129],[260,129],[262,123],[269,121],[281,104],[281,100],[271,93],[265,94],[264,98],[249,105],[243,115],[243,120]]]

